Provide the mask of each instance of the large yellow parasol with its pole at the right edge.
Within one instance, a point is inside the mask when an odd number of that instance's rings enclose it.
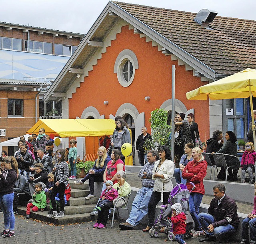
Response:
[[[250,97],[252,121],[254,121],[252,95],[256,97],[256,69],[245,69],[186,93],[188,100],[207,100],[208,97],[211,100]],[[254,147],[256,147],[254,123],[252,123],[252,131]]]

